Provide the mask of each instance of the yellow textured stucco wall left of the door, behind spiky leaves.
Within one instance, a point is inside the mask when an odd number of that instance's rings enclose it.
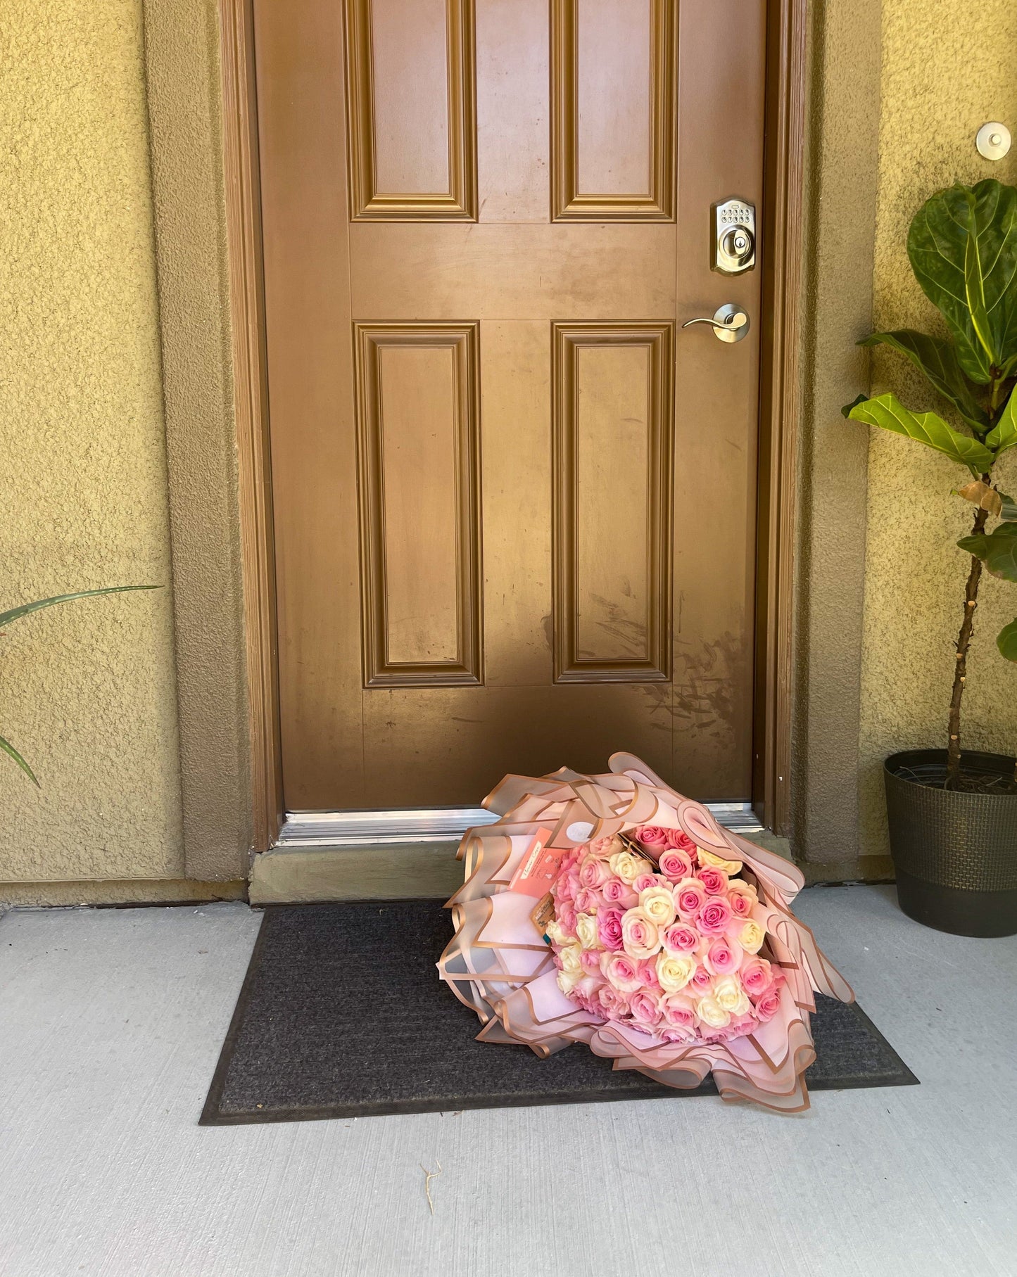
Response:
[[[180,879],[166,465],[138,0],[0,5],[0,882]]]

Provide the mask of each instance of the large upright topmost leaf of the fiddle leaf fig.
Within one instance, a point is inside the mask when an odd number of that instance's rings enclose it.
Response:
[[[915,215],[907,255],[974,382],[1017,365],[1017,188],[986,178],[937,192]]]

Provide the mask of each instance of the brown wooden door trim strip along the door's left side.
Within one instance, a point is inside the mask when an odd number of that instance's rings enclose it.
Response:
[[[218,28],[252,838],[264,852],[284,807],[252,0],[218,0]]]

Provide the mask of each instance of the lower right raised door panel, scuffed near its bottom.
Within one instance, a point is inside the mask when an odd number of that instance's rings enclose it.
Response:
[[[554,679],[667,682],[673,326],[554,324]]]

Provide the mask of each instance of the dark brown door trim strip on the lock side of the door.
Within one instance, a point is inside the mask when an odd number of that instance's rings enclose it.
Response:
[[[763,207],[753,805],[791,824],[807,0],[770,0]]]

